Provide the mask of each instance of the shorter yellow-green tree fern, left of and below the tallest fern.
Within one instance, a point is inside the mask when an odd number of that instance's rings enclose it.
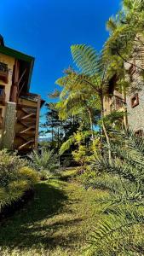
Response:
[[[89,130],[91,131],[92,139],[94,139],[95,109],[98,109],[99,113],[100,104],[97,96],[94,93],[92,95],[91,90],[84,87],[84,82],[80,82],[80,79],[83,78],[72,69],[69,69],[66,71],[66,77],[56,81],[57,84],[64,87],[60,94],[60,102],[57,104],[57,109],[61,119],[79,114],[86,123],[89,120]]]

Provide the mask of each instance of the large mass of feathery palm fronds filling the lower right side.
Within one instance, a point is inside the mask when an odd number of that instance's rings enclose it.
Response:
[[[112,132],[110,148],[105,146],[93,176],[84,180],[109,192],[99,200],[105,207],[89,237],[88,255],[144,255],[144,140],[132,131]]]

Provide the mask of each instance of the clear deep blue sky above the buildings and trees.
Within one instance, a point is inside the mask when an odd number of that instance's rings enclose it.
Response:
[[[0,33],[5,44],[36,58],[31,91],[47,95],[72,64],[70,46],[101,50],[105,28],[120,0],[1,0]]]

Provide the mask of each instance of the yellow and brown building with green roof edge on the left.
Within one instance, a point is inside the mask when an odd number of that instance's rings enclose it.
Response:
[[[0,36],[0,148],[37,148],[43,100],[30,93],[34,58],[4,45]]]

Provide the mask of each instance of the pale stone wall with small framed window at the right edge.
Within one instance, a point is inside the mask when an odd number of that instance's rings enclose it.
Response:
[[[126,103],[128,113],[128,124],[138,136],[144,135],[144,40],[135,45],[136,54],[130,63],[125,63],[127,79],[130,82],[130,90],[127,92]],[[129,75],[128,75],[129,74]]]

